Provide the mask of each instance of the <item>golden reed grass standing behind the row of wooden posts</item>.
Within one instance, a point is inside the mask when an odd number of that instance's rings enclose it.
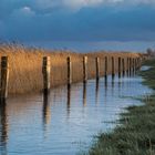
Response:
[[[83,56],[87,55],[89,79],[95,78],[95,58],[100,58],[101,75],[104,75],[104,58],[108,58],[108,74],[111,73],[111,58],[115,59],[115,71],[117,72],[117,59],[137,58],[138,53],[73,53],[70,51],[48,51],[34,48],[24,48],[14,44],[1,44],[0,56],[9,56],[10,76],[9,94],[22,94],[42,90],[42,58],[51,56],[51,87],[66,83],[66,58],[71,56],[73,68],[73,82],[83,80]]]

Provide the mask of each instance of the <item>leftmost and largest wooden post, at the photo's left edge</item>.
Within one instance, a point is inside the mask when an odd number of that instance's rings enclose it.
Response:
[[[1,82],[0,82],[0,102],[6,102],[8,97],[8,82],[9,82],[9,62],[8,56],[1,58]]]

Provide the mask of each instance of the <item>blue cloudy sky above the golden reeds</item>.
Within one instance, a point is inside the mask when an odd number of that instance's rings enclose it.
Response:
[[[0,41],[155,46],[154,19],[155,0],[0,0]]]

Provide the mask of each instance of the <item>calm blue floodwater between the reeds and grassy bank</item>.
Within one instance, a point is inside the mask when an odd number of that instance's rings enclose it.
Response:
[[[74,155],[87,151],[94,135],[110,132],[124,107],[152,91],[142,79],[111,76],[10,97],[0,106],[0,155]]]

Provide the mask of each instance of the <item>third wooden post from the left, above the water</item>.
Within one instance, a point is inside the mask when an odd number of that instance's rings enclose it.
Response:
[[[71,62],[71,56],[68,56],[66,63],[68,63],[68,84],[70,85],[72,83],[72,62]]]

